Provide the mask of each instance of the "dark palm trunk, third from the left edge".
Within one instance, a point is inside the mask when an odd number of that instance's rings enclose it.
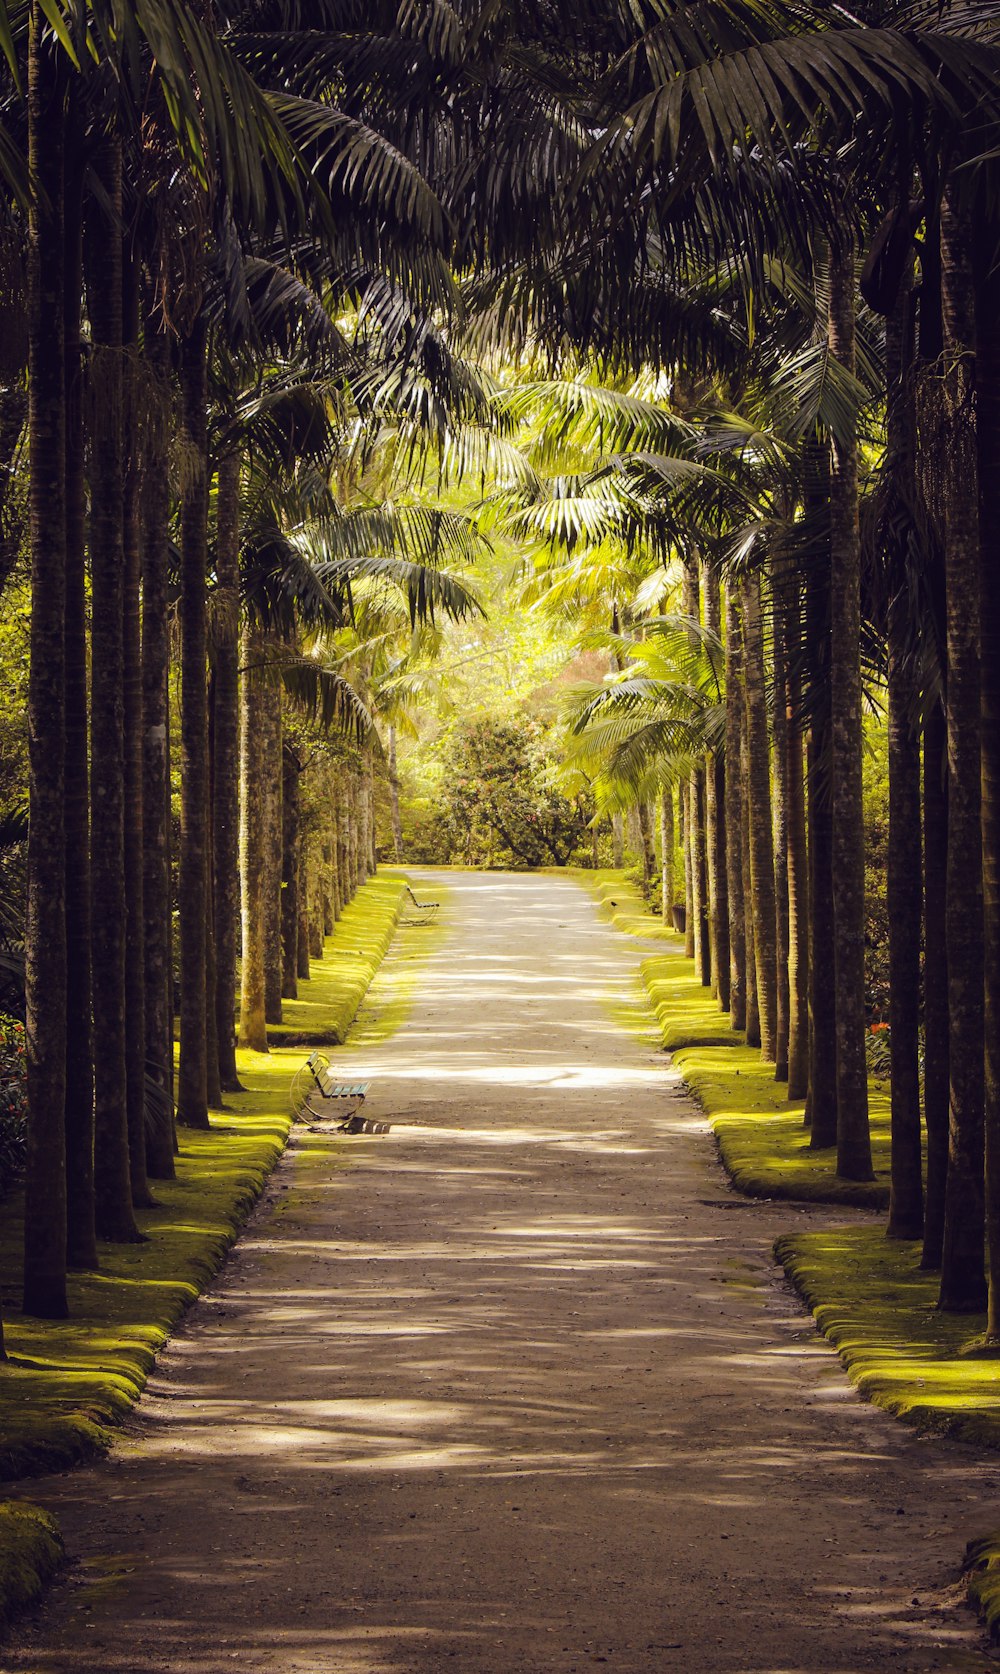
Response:
[[[109,208],[92,203],[87,226],[90,363],[90,889],[94,953],[94,1178],[97,1232],[131,1242],[132,1214],[126,1070],[126,735],[124,735],[124,435],[121,142],[107,141],[95,171]]]

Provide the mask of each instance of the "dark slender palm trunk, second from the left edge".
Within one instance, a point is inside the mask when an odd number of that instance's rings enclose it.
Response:
[[[75,90],[74,90],[75,92]],[[94,1023],[90,1013],[90,728],[87,718],[87,485],[80,300],[84,159],[70,97],[65,159],[65,946],[67,1261],[97,1266]]]

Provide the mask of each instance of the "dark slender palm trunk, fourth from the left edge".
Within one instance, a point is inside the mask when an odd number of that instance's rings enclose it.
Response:
[[[126,1100],[132,1204],[154,1199],[146,1172],[146,944],[142,919],[142,581],[141,435],[136,417],[139,358],[139,275],[122,266],[122,360],[126,424],[122,519],[122,725],[124,725],[124,849],[126,849]]]

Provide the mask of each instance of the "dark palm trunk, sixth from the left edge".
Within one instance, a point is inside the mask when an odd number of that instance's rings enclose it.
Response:
[[[208,1128],[208,328],[181,347],[189,480],[181,502],[181,1065],[178,1120]]]

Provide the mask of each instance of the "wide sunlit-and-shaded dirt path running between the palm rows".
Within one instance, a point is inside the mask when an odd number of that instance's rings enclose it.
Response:
[[[998,1468],[859,1404],[613,1021],[570,879],[454,876],[409,1024],[338,1066],[134,1435],[39,1487],[89,1553],[32,1674],[985,1667],[948,1590]],[[414,932],[419,934],[419,932]]]

